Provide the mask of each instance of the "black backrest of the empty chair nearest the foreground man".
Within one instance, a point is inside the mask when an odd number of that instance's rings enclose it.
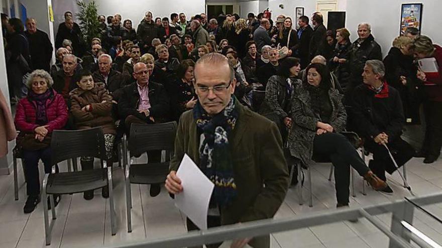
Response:
[[[175,149],[175,121],[160,124],[131,125],[128,149],[131,154],[141,154],[147,151]]]

